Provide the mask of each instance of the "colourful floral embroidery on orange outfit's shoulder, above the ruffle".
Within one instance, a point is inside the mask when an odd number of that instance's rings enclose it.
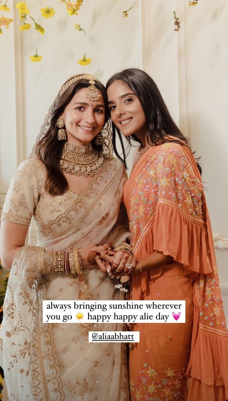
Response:
[[[184,146],[166,143],[146,160],[136,177],[130,198],[131,243],[154,217],[159,202],[176,207],[195,223],[202,223],[203,186],[184,152]]]

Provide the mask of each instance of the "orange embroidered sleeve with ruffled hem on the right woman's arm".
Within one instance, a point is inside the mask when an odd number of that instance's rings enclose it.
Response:
[[[157,198],[153,220],[153,249],[182,263],[185,273],[211,273],[203,221],[203,186],[190,150],[164,144],[154,160]],[[190,154],[191,155],[191,154]]]

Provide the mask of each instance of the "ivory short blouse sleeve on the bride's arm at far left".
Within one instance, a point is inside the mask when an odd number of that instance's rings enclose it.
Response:
[[[38,203],[39,181],[32,160],[20,164],[10,182],[1,221],[29,226]]]

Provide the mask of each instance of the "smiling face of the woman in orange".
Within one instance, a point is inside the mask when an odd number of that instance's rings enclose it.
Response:
[[[138,97],[123,81],[114,81],[107,89],[112,122],[124,136],[146,135],[146,117]]]

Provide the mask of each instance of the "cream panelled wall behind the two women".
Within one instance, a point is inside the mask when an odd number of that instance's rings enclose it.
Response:
[[[13,2],[7,5],[12,8]],[[14,8],[7,14],[14,22],[0,35],[0,192],[6,192],[16,166],[30,154],[66,77],[92,73],[106,83],[116,71],[140,67],[157,83],[175,122],[201,156],[212,230],[228,238],[227,0],[199,0],[195,7],[188,7],[188,0],[84,0],[78,16],[69,16],[58,0],[27,4],[46,30],[44,35],[36,33],[44,58],[30,61],[34,28],[19,31]],[[56,11],[50,20],[40,16],[40,8],[47,5]],[[122,11],[130,6],[128,18],[123,18]],[[174,32],[173,10],[180,19],[179,32]],[[75,23],[87,37],[74,29]],[[82,67],[77,60],[85,52],[92,63]],[[228,315],[228,245],[225,248],[216,253]]]

